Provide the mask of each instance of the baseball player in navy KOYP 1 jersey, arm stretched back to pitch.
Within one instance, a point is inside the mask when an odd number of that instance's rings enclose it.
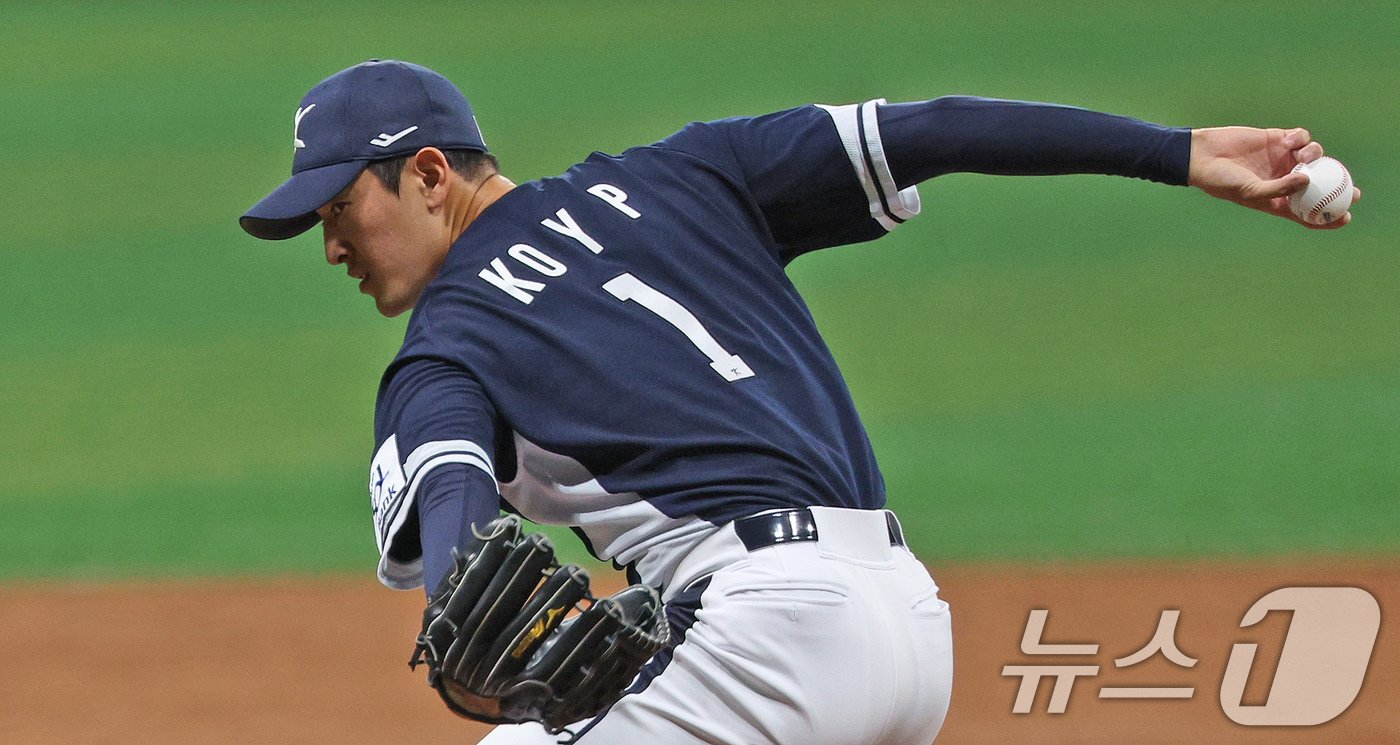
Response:
[[[941,174],[1190,183],[1294,218],[1287,195],[1308,176],[1289,171],[1322,155],[1302,129],[945,97],[692,123],[515,185],[466,98],[392,60],[315,85],[294,127],[291,178],[241,225],[281,239],[321,223],[326,260],[379,312],[413,309],[375,409],[378,577],[431,588],[430,681],[459,713],[515,723],[494,745],[931,742],[949,609],[883,510],[860,416],[785,266],[897,228]],[[665,602],[664,648],[567,727],[512,716],[525,709],[472,682],[480,650],[524,650],[559,615],[468,643],[505,583],[473,571],[494,536],[519,545],[501,510],[573,527]],[[560,679],[531,685],[549,700],[587,685]]]

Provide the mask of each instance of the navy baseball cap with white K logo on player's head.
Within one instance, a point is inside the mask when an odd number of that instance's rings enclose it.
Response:
[[[486,151],[472,105],[448,78],[410,62],[370,60],[311,88],[297,106],[291,178],[238,224],[280,241],[311,230],[316,210],[354,182],[370,161],[423,147]]]

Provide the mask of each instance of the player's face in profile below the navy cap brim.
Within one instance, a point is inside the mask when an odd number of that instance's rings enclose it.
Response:
[[[395,316],[419,301],[445,255],[440,223],[430,218],[420,195],[400,186],[395,195],[365,171],[316,210],[326,260],[346,265],[360,291],[374,297],[381,314]]]

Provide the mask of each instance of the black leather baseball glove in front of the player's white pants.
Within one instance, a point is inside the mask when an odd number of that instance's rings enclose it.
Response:
[[[550,732],[616,702],[666,646],[661,598],[645,585],[595,599],[588,573],[559,566],[543,535],[515,517],[491,521],[433,592],[410,668],[448,709],[493,724],[538,721]]]

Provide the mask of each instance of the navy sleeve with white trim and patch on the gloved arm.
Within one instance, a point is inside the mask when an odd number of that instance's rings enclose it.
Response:
[[[400,357],[375,406],[370,503],[379,581],[412,590],[444,573],[473,522],[498,514],[496,409],[462,367]],[[427,555],[427,562],[424,562]],[[435,584],[435,583],[434,583]]]

